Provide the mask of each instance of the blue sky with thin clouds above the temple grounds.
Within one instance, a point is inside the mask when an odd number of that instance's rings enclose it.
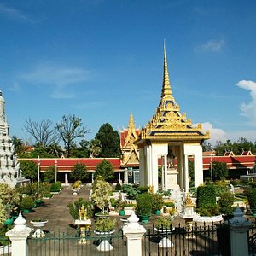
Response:
[[[0,0],[0,90],[10,135],[79,115],[95,136],[148,123],[163,41],[181,112],[216,140],[256,140],[255,1]]]

